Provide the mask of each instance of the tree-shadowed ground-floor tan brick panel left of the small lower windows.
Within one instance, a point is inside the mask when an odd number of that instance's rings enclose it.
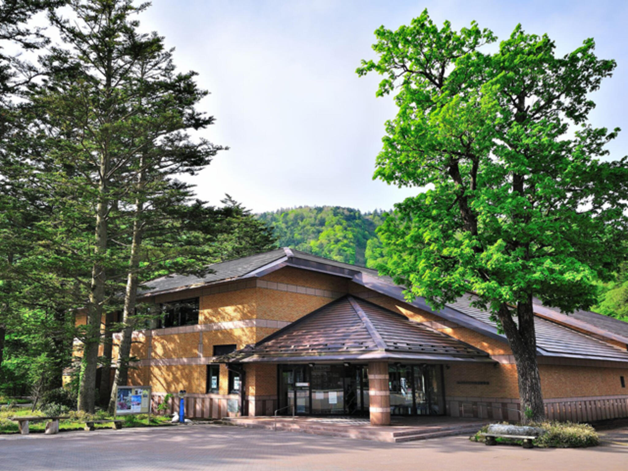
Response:
[[[191,394],[204,394],[206,377],[205,365],[153,365],[150,384],[153,393],[178,393],[185,389]]]

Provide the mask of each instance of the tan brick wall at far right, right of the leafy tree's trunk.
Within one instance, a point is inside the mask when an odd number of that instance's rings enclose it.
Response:
[[[544,399],[628,395],[620,376],[628,383],[628,367],[596,368],[566,365],[539,365]]]

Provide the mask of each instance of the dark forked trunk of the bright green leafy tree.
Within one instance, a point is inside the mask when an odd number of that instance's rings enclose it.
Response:
[[[532,295],[529,295],[526,301],[517,303],[517,323],[512,319],[511,310],[506,304],[502,304],[497,317],[502,323],[517,365],[521,421],[522,423],[543,421],[545,407],[541,394],[541,376],[536,362]]]

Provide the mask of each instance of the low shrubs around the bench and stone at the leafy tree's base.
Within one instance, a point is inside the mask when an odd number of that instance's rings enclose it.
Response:
[[[542,428],[545,433],[534,440],[534,445],[539,448],[585,448],[597,447],[600,444],[600,437],[595,428],[587,423],[573,422],[542,422],[528,424]],[[478,430],[475,435],[469,437],[471,441],[485,441],[485,437],[480,435],[487,433],[489,426],[485,425]],[[522,440],[511,440],[509,438],[495,438],[497,443],[521,445]]]

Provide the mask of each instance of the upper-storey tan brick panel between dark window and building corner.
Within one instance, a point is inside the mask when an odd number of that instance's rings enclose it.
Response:
[[[256,288],[201,296],[198,323],[229,322],[256,317]]]

